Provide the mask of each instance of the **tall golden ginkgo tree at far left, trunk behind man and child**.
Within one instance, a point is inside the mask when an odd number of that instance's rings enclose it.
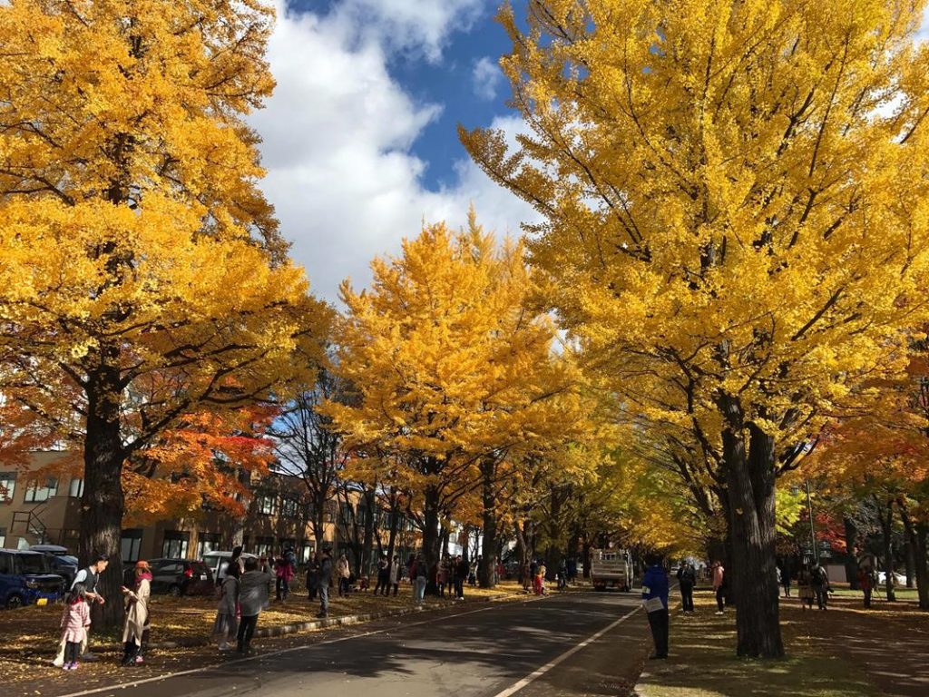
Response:
[[[126,462],[315,362],[329,312],[243,121],[273,87],[272,20],[259,0],[0,5],[0,391],[83,454],[82,559],[119,566]]]

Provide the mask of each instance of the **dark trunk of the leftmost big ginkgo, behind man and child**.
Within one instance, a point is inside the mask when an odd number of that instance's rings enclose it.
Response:
[[[78,552],[82,566],[96,554],[110,557],[100,574],[98,593],[104,605],[94,604],[93,625],[112,629],[123,624],[122,546],[125,452],[120,433],[119,371],[111,367],[116,349],[102,354],[105,362],[87,375],[87,430],[84,443],[84,494],[81,496],[81,533]],[[106,362],[110,364],[106,364]]]

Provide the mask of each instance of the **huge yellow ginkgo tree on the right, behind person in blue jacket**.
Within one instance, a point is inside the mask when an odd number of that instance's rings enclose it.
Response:
[[[783,653],[775,483],[924,314],[924,2],[530,0],[501,65],[530,129],[461,131],[533,204],[587,365],[689,430],[729,500],[738,653]]]

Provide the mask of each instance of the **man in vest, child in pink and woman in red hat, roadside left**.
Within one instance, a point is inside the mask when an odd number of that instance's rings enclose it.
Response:
[[[110,559],[105,554],[94,557],[93,562],[77,572],[65,598],[61,613],[61,638],[58,655],[53,664],[64,670],[76,670],[80,660],[87,656],[90,630],[90,608],[94,603],[106,602],[98,588],[100,574],[105,572]],[[125,603],[123,625],[123,665],[136,665],[144,661],[143,652],[149,639],[149,597],[151,569],[147,561],[137,561],[131,587],[122,586]]]

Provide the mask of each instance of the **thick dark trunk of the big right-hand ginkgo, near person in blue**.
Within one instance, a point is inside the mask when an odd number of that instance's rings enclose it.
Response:
[[[784,646],[775,571],[774,439],[750,424],[746,453],[739,400],[724,396],[720,407],[726,419],[723,457],[732,555],[727,574],[737,601],[736,652],[752,658],[780,658]]]

